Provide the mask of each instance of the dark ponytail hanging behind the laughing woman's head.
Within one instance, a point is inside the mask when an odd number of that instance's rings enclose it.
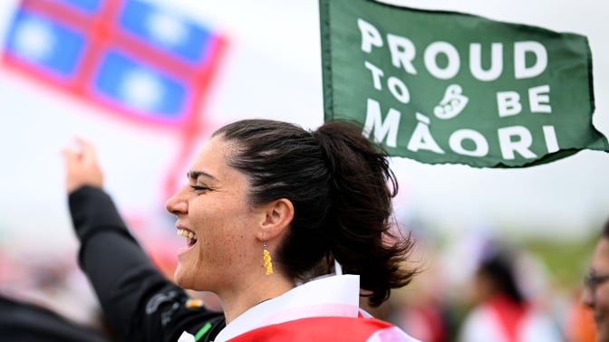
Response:
[[[330,249],[344,273],[359,274],[372,306],[389,299],[391,288],[410,283],[416,271],[404,270],[410,236],[391,233],[391,199],[398,182],[382,147],[347,121],[325,123],[314,132],[330,173],[331,209],[327,216]]]

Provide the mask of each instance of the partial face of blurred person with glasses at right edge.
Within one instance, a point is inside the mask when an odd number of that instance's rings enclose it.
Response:
[[[584,284],[582,301],[594,310],[597,341],[609,342],[609,221],[594,248]]]

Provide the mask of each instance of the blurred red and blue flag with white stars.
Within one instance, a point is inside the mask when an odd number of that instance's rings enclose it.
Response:
[[[146,1],[24,0],[3,60],[122,118],[183,127],[197,114],[221,45],[218,33]]]

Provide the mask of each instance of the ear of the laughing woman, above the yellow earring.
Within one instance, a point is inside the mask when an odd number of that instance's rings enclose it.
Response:
[[[265,205],[265,216],[260,224],[258,239],[271,241],[285,232],[294,219],[294,204],[286,198],[280,198]]]

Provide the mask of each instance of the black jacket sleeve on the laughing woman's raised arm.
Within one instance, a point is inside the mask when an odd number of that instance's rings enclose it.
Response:
[[[177,341],[183,331],[195,335],[224,325],[221,313],[189,308],[187,293],[152,264],[102,189],[82,186],[70,194],[69,206],[81,242],[80,266],[120,337]]]

